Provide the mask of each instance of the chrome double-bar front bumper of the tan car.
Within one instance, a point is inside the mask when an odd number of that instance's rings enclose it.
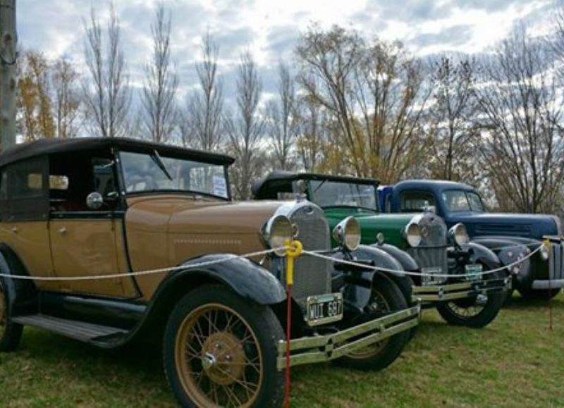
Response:
[[[351,352],[409,330],[419,324],[419,305],[330,335],[290,340],[290,366],[319,363],[344,357]],[[286,340],[278,342],[278,370],[286,368]]]

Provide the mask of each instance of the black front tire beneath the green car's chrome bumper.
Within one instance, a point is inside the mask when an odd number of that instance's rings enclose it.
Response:
[[[487,268],[484,268],[486,271]],[[491,276],[491,275],[489,275]],[[495,278],[505,278],[505,273],[494,273]],[[507,299],[506,292],[489,292],[486,295],[487,299],[483,304],[479,304],[482,299],[480,295],[467,299],[456,299],[451,302],[443,302],[439,304],[436,309],[439,314],[453,326],[467,326],[472,328],[482,328],[488,326],[489,323],[496,319],[501,307]],[[478,306],[477,306],[478,305]],[[471,309],[476,309],[474,313],[470,312]],[[462,313],[468,311],[468,314]]]

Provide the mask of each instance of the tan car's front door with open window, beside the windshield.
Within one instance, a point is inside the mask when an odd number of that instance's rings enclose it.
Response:
[[[111,156],[99,152],[52,157],[49,173],[49,236],[56,276],[108,276],[129,270],[125,255],[123,211],[116,194]],[[104,197],[100,208],[87,205],[87,196]],[[135,297],[133,278],[65,280],[63,292]]]

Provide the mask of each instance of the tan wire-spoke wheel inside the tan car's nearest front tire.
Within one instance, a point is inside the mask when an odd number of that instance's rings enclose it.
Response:
[[[261,355],[249,324],[223,304],[191,311],[176,336],[178,376],[198,406],[250,407],[263,381]]]

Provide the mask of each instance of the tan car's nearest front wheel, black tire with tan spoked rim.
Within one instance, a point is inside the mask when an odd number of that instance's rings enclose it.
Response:
[[[209,311],[207,311],[207,308]],[[209,323],[211,320],[207,320],[206,314],[211,313],[214,309],[217,312],[212,324]],[[231,312],[234,313],[230,314]],[[221,313],[224,314],[223,318]],[[206,319],[200,320],[202,316]],[[213,315],[209,314],[209,316]],[[234,320],[229,320],[229,316],[232,316],[232,318],[235,316]],[[190,324],[194,328],[192,331],[185,329],[186,325],[190,328]],[[206,330],[203,329],[206,326],[213,331],[213,333],[207,332],[207,337],[205,336]],[[199,331],[197,328],[202,330]],[[220,328],[223,328],[223,331]],[[183,335],[183,330],[188,330],[186,336]],[[218,333],[223,333],[223,337]],[[202,334],[201,337],[200,334]],[[183,342],[184,338],[191,340]],[[237,343],[236,340],[241,340],[241,338],[249,338],[250,340]],[[240,386],[238,384],[247,384],[245,386],[246,392],[247,389],[250,389],[248,386],[251,384],[247,382],[247,378],[258,376],[262,380],[257,380],[252,398],[249,397],[248,400],[239,402],[235,406],[280,407],[283,403],[284,371],[276,369],[276,348],[278,340],[283,338],[283,329],[269,307],[243,299],[221,285],[207,285],[192,290],[176,304],[168,319],[164,333],[164,369],[176,399],[183,407],[228,405],[225,403],[225,398],[231,401],[232,395],[229,396],[226,388],[231,385],[221,385],[223,388],[219,388],[221,381],[231,381],[233,388],[230,388],[230,390],[236,394],[238,392],[237,387]],[[185,347],[178,345],[185,345]],[[197,347],[200,347],[200,351],[195,350]],[[213,352],[209,352],[209,347],[212,347]],[[177,350],[180,351],[177,352]],[[181,352],[181,350],[185,351]],[[223,351],[218,352],[218,350]],[[198,357],[192,357],[192,360],[190,360],[190,352]],[[183,356],[180,359],[181,364],[176,364],[177,358],[180,358],[178,353]],[[233,357],[231,357],[232,355]],[[249,359],[250,355],[253,356],[252,359]],[[200,358],[200,356],[202,357]],[[206,360],[204,356],[211,357]],[[251,364],[250,361],[259,362]],[[194,375],[183,376],[183,372],[186,373],[186,371],[183,371],[184,366],[189,366],[188,372]],[[239,366],[244,368],[238,369]],[[260,366],[261,372],[255,373],[252,370],[257,369],[250,366]],[[196,384],[197,369],[200,369],[200,377],[198,377],[199,381]],[[247,371],[249,369],[251,371]],[[232,375],[233,371],[237,374]],[[206,384],[212,388],[212,383],[216,394],[214,397],[214,392],[212,392],[212,399],[210,399],[209,395],[205,395],[206,392],[203,388]],[[228,396],[226,397],[226,395]],[[240,393],[238,395],[241,396]],[[245,405],[245,403],[248,404]]]

